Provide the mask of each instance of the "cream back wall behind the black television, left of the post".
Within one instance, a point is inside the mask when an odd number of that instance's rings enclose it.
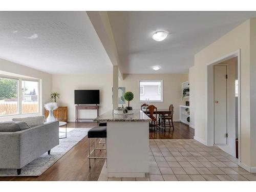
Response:
[[[53,91],[60,94],[58,105],[68,106],[68,121],[75,121],[74,90],[99,89],[100,114],[112,110],[112,74],[53,75]],[[80,118],[95,118],[96,110],[83,110]]]

